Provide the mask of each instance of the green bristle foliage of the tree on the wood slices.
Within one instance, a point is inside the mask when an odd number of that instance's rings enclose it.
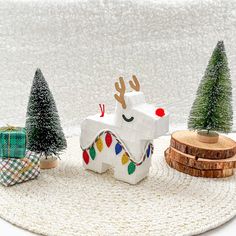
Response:
[[[232,87],[223,41],[212,53],[192,105],[188,128],[228,133],[232,129]]]

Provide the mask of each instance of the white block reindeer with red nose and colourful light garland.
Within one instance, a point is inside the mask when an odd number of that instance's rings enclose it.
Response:
[[[98,173],[114,167],[116,179],[136,184],[149,172],[152,141],[168,132],[169,115],[145,102],[135,76],[129,81],[134,92],[125,93],[122,77],[119,82],[115,113],[96,114],[82,122],[83,165]]]

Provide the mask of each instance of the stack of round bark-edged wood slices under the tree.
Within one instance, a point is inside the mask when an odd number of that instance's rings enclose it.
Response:
[[[196,132],[177,131],[171,135],[165,159],[172,168],[192,176],[228,177],[236,168],[236,142],[220,135],[217,143],[203,143]]]

